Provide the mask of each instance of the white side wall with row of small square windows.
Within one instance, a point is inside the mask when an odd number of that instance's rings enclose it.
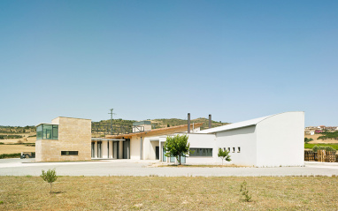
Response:
[[[234,130],[217,132],[217,146],[230,147],[231,162],[227,164],[255,166],[256,165],[256,126],[251,125]],[[234,152],[233,152],[234,147]],[[238,147],[241,151],[238,152]],[[217,155],[217,154],[216,154]],[[220,158],[219,158],[220,160]],[[221,162],[221,160],[220,160]]]

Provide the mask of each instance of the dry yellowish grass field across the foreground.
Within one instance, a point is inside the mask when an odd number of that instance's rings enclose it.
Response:
[[[244,202],[248,183],[253,202]],[[0,177],[0,210],[336,210],[337,177]]]

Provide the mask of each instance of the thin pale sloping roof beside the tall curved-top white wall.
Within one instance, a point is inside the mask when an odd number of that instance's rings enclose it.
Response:
[[[266,118],[272,117],[272,116],[274,116],[274,115],[254,118],[254,119],[242,121],[242,122],[239,122],[239,123],[227,124],[227,125],[223,125],[223,126],[219,126],[219,127],[206,129],[206,130],[200,131],[198,133],[204,133],[205,134],[205,133],[213,133],[213,132],[223,132],[223,131],[233,130],[233,129],[237,129],[237,128],[247,127],[247,126],[250,126],[250,125],[256,125],[260,121],[263,121]]]

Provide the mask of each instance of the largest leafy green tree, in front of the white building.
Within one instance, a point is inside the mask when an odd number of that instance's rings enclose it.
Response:
[[[165,151],[167,152],[165,156],[175,157],[181,165],[181,157],[186,157],[190,153],[189,147],[187,135],[168,136],[165,141]]]

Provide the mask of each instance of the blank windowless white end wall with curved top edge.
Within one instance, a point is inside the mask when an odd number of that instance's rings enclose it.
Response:
[[[257,124],[257,166],[303,166],[304,113],[286,112]]]

